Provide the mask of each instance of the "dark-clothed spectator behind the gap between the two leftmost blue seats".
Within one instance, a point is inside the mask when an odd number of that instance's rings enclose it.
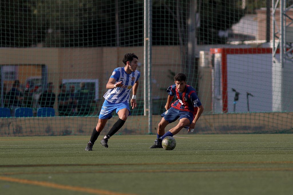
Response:
[[[9,108],[11,109],[11,116],[14,116],[14,111],[17,107],[21,107],[23,94],[20,90],[19,80],[13,82],[12,88],[6,94],[6,103],[8,103]]]

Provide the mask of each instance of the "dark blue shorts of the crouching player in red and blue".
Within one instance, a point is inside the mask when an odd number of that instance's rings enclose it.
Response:
[[[168,121],[168,123],[174,122],[178,118],[179,118],[179,120],[181,118],[188,118],[189,119],[189,125],[191,124],[191,122],[194,119],[194,116],[193,116],[192,112],[180,111],[180,110],[177,110],[177,109],[175,109],[173,107],[169,108],[166,112],[161,114],[161,116],[164,117],[164,119],[166,121]],[[187,126],[185,126],[185,128],[187,128]]]

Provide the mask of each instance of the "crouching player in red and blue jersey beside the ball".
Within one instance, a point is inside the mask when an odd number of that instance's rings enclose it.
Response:
[[[197,97],[195,89],[186,84],[186,76],[183,73],[178,73],[175,75],[174,81],[175,84],[167,89],[169,94],[165,106],[167,111],[161,114],[162,120],[158,125],[157,139],[150,148],[163,148],[162,140],[167,136],[173,137],[183,127],[188,128],[188,132],[190,130],[193,132],[195,123],[203,112],[204,108]],[[176,96],[177,100],[170,106],[174,96]],[[179,119],[178,125],[165,133],[165,127],[177,119]]]

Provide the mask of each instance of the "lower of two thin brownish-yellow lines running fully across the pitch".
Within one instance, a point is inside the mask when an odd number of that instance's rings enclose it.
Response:
[[[229,172],[229,171],[293,171],[293,168],[231,168],[231,169],[180,169],[180,170],[123,170],[123,171],[56,171],[56,172],[4,172],[1,175],[21,174],[78,174],[78,173],[157,173],[157,172]],[[1,179],[0,179],[1,180]]]

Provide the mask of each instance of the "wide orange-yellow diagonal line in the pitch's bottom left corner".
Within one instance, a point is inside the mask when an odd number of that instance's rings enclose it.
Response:
[[[119,192],[113,192],[113,191],[107,191],[107,190],[101,190],[101,189],[93,189],[93,188],[84,188],[84,187],[76,187],[76,186],[69,186],[69,185],[61,185],[61,184],[55,184],[55,183],[50,183],[50,182],[25,180],[25,179],[18,179],[18,178],[12,178],[12,177],[0,176],[0,180],[6,181],[6,182],[15,182],[15,183],[21,183],[21,184],[30,184],[30,185],[36,185],[36,186],[42,186],[42,187],[50,187],[50,188],[54,188],[54,189],[80,191],[80,192],[86,192],[86,193],[90,193],[90,194],[132,195],[132,194],[125,194],[125,193],[119,193]]]

